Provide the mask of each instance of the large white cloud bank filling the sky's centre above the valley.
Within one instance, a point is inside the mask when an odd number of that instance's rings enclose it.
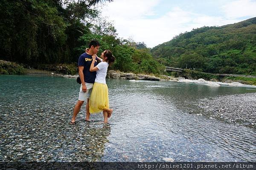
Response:
[[[247,5],[250,3],[249,0],[245,2]],[[116,0],[108,3],[102,15],[109,16],[109,19],[114,21],[119,37],[125,39],[133,37],[136,42],[143,41],[148,47],[169,41],[176,35],[189,32],[193,28],[222,26],[240,21],[236,19],[236,16],[227,19],[225,16],[217,17],[185,11],[180,7],[174,7],[166,14],[157,17],[154,15],[156,13],[154,7],[158,3],[160,3],[159,0]],[[227,8],[225,12],[227,16],[232,16]]]

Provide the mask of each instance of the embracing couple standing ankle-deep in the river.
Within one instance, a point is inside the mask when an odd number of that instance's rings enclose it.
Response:
[[[76,115],[79,113],[85,100],[87,101],[85,121],[90,121],[90,113],[103,111],[103,123],[108,123],[108,118],[113,112],[113,109],[109,109],[106,75],[108,65],[112,64],[115,58],[110,50],[102,52],[101,58],[99,58],[96,55],[99,51],[99,46],[98,41],[92,40],[89,43],[89,49],[79,57],[78,69],[81,86],[78,102],[74,108],[70,124],[76,124]]]

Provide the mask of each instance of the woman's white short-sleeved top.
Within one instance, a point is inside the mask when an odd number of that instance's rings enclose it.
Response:
[[[107,76],[107,71],[108,71],[108,62],[100,62],[96,66],[99,70],[96,71],[96,78],[95,82],[101,83],[101,84],[106,84],[106,76]]]

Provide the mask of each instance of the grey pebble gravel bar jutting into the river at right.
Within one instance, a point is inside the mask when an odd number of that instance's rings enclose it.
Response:
[[[203,109],[198,115],[256,128],[256,93],[202,99],[198,107]]]

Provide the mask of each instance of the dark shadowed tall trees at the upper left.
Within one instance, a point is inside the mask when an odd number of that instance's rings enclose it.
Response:
[[[0,57],[21,63],[76,62],[78,38],[106,0],[1,0]],[[111,1],[111,0],[108,0]]]

